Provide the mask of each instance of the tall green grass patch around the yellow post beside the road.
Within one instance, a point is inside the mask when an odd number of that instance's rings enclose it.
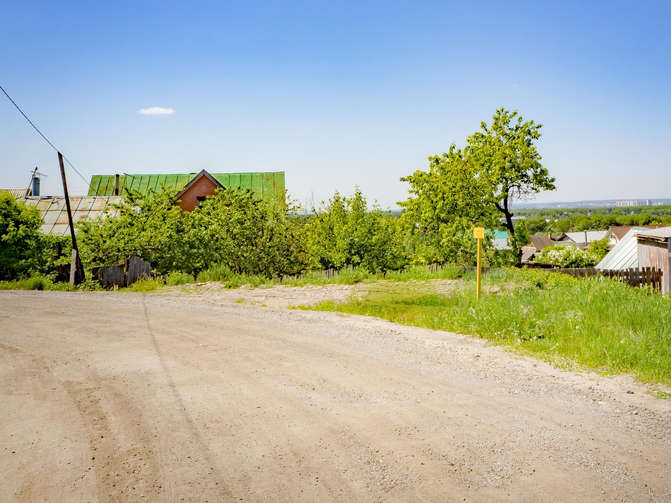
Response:
[[[500,292],[491,292],[494,287]],[[537,270],[491,272],[483,276],[483,290],[476,300],[469,277],[448,295],[372,292],[364,300],[303,309],[477,335],[554,364],[671,385],[671,298],[601,276],[578,280]]]

